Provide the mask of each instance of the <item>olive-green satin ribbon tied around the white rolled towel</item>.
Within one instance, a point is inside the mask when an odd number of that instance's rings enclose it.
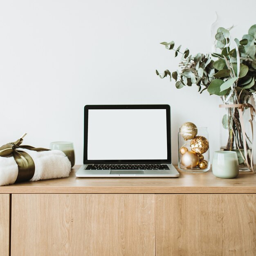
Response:
[[[32,157],[25,151],[17,150],[17,148],[25,148],[34,151],[49,150],[47,148],[34,148],[28,145],[20,146],[22,141],[23,139],[20,138],[15,142],[10,142],[0,147],[0,157],[10,157],[12,155],[18,165],[18,176],[15,183],[30,180],[35,173],[35,163]]]

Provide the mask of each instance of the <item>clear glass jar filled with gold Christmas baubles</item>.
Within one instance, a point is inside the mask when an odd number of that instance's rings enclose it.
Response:
[[[191,173],[207,172],[210,169],[207,127],[197,127],[186,132],[188,133],[184,136],[184,131],[180,128],[178,133],[179,168]]]

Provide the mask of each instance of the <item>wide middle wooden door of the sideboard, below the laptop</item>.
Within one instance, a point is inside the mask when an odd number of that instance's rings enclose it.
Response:
[[[154,195],[16,194],[11,256],[155,255]]]

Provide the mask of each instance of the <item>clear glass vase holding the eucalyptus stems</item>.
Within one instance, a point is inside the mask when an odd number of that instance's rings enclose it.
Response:
[[[252,128],[249,120],[250,108],[248,107],[248,101],[250,95],[242,99],[241,104],[245,104],[241,111],[243,111],[243,121],[239,115],[237,107],[228,107],[229,105],[237,105],[235,97],[230,97],[225,103],[226,107],[221,108],[221,132],[220,132],[220,150],[235,151],[238,157],[239,171],[251,171],[251,160],[252,160]],[[225,99],[224,99],[225,100]],[[241,105],[240,104],[240,105]],[[243,122],[243,124],[241,123]],[[243,130],[245,136],[243,136]],[[246,154],[244,148],[244,138],[246,145]],[[247,158],[247,161],[246,161]],[[253,164],[252,164],[253,165]]]

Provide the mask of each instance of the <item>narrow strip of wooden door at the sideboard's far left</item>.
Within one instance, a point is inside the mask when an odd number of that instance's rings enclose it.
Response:
[[[0,194],[0,255],[9,256],[9,200],[10,195]]]

